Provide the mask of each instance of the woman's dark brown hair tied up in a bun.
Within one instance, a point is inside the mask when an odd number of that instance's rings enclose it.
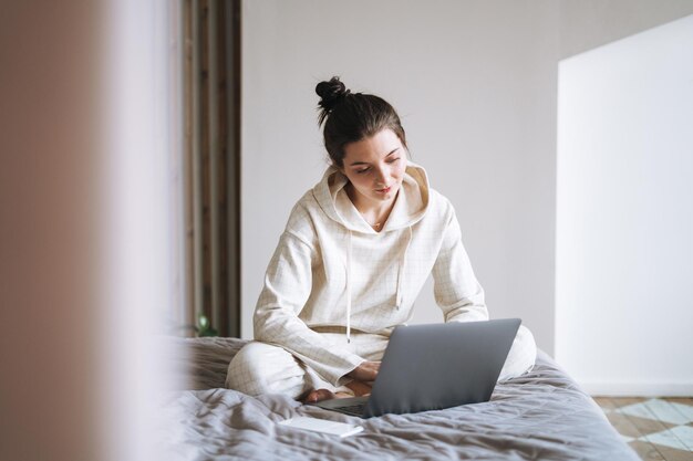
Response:
[[[316,86],[320,96],[318,125],[324,122],[324,147],[338,167],[343,167],[344,146],[390,128],[406,147],[400,117],[385,99],[372,94],[352,93],[333,76]]]

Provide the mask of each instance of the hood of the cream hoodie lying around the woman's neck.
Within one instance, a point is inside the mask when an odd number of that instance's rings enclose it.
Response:
[[[363,219],[351,202],[344,186],[349,179],[339,169],[329,167],[320,182],[313,187],[313,196],[324,213],[349,231],[379,233]],[[428,208],[428,177],[423,167],[407,161],[404,179],[397,192],[392,212],[381,232],[401,230],[418,222]]]

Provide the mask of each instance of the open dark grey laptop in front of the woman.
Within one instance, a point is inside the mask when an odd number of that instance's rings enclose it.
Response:
[[[371,418],[488,401],[521,321],[397,326],[370,396],[311,404]]]

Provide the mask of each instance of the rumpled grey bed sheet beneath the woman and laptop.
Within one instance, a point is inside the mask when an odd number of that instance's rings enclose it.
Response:
[[[188,390],[162,399],[162,450],[170,460],[638,460],[594,401],[545,353],[535,368],[499,384],[492,400],[361,420],[224,388],[245,343],[186,339]],[[297,416],[360,423],[340,439],[279,426]]]

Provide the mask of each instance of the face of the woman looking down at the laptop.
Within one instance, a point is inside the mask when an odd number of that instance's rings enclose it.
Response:
[[[353,186],[358,207],[381,207],[394,200],[405,168],[406,149],[390,128],[344,146],[341,171]]]

